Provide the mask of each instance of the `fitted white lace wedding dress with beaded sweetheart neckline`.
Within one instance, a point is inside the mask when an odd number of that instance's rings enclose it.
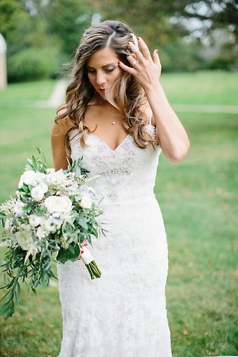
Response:
[[[146,126],[155,134],[155,127]],[[76,137],[74,137],[76,135]],[[74,137],[74,138],[73,138]],[[153,188],[161,148],[139,148],[129,134],[116,150],[94,134],[82,148],[71,133],[71,157],[83,155],[101,207],[106,237],[87,246],[102,276],[83,260],[57,264],[63,339],[59,357],[171,357],[165,283],[167,238]]]

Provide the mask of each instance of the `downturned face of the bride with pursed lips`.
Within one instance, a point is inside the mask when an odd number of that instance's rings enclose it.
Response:
[[[109,90],[122,69],[118,66],[119,58],[111,48],[103,48],[94,52],[87,59],[87,76],[94,89],[106,99],[106,90]]]

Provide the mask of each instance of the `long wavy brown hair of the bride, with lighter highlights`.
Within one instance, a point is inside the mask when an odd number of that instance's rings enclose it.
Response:
[[[70,155],[71,130],[78,129],[81,133],[80,144],[83,148],[87,146],[85,139],[90,134],[89,128],[84,125],[84,118],[87,104],[94,97],[95,90],[87,77],[87,60],[92,53],[109,47],[116,52],[120,61],[130,66],[127,55],[131,55],[132,51],[127,43],[134,41],[132,33],[133,29],[127,24],[106,20],[89,27],[83,34],[71,64],[71,83],[66,88],[66,102],[58,109],[55,118],[57,124],[66,118],[72,123],[65,135],[66,155]],[[121,71],[121,75],[111,85],[107,100],[122,113],[121,122],[125,132],[132,135],[137,146],[146,148],[151,144],[155,148],[155,139],[145,130],[146,115],[140,111],[141,105],[147,102],[146,94],[136,78],[127,71]]]

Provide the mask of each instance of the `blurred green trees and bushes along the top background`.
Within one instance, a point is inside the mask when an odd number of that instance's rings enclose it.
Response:
[[[159,48],[163,71],[238,68],[235,0],[1,0],[8,80],[57,76],[85,27],[106,19],[127,22],[151,50]],[[29,71],[22,64],[26,53]]]

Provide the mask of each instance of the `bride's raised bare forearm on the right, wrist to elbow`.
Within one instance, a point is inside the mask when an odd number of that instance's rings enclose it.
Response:
[[[165,156],[177,162],[188,153],[190,142],[186,130],[170,106],[160,83],[146,89],[156,123],[156,136]]]

